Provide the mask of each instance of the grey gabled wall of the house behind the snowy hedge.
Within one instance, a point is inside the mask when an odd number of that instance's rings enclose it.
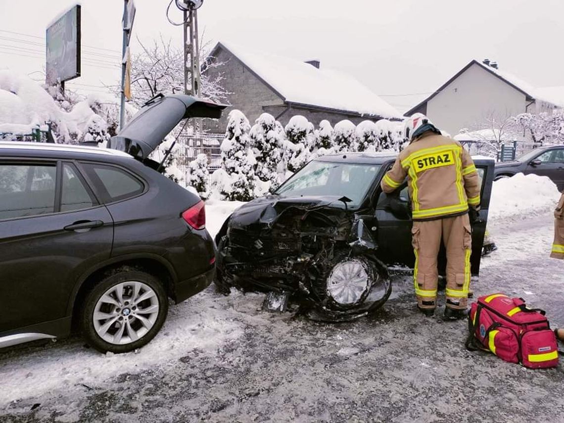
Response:
[[[220,120],[204,120],[204,129],[209,133],[224,133],[227,126],[227,116],[233,109],[239,109],[248,118],[249,123],[254,125],[255,120],[264,112],[277,117],[283,126],[288,124],[292,116],[301,114],[305,116],[315,126],[319,126],[322,120],[328,120],[334,126],[343,119],[352,121],[358,125],[364,120],[376,122],[380,118],[373,116],[359,116],[338,111],[326,111],[323,109],[296,107],[288,109],[287,103],[283,98],[276,94],[268,85],[256,77],[248,68],[230,52],[218,49],[215,52],[215,59],[223,62],[224,65],[207,70],[210,76],[221,73],[223,75],[222,85],[231,94],[228,95],[230,107],[226,108]]]

